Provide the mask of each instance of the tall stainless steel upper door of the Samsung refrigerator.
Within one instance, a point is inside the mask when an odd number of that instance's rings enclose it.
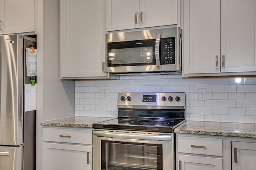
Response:
[[[23,144],[22,55],[19,35],[0,36],[0,145]]]

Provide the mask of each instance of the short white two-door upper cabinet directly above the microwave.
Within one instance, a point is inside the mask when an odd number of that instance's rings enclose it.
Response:
[[[107,0],[107,31],[178,23],[178,0]]]

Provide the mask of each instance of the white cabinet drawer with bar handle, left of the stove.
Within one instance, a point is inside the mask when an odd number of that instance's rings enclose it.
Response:
[[[92,144],[92,129],[43,128],[43,140],[77,144]]]

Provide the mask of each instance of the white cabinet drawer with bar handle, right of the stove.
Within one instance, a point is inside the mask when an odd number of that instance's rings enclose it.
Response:
[[[222,139],[178,136],[178,152],[222,156]]]

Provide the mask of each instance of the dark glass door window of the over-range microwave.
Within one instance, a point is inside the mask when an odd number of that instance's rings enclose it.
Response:
[[[108,43],[108,67],[156,65],[156,39]]]

